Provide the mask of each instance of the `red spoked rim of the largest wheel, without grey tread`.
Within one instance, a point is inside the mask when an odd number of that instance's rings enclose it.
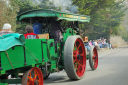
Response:
[[[75,41],[73,48],[73,62],[76,69],[76,74],[82,77],[86,68],[86,53],[83,41],[78,38]]]

